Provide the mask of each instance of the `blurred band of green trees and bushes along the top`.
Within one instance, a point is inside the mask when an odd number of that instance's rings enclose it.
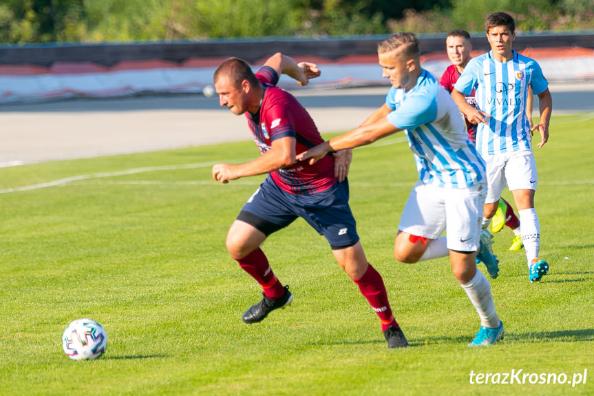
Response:
[[[0,42],[482,32],[496,10],[518,30],[594,28],[593,0],[0,0]]]

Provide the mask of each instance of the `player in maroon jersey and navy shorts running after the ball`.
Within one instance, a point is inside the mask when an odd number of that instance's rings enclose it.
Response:
[[[381,275],[369,264],[359,242],[348,205],[350,152],[326,156],[319,163],[296,163],[296,152],[323,143],[315,123],[297,99],[276,87],[279,74],[300,85],[319,76],[314,63],[296,63],[288,56],[271,56],[256,74],[241,59],[224,61],[213,81],[221,106],[245,114],[254,141],[262,153],[241,165],[213,166],[215,180],[228,183],[244,176],[268,174],[231,225],[226,247],[231,257],[261,286],[264,298],[244,313],[242,320],[256,323],[271,311],[293,301],[288,286],[273,273],[260,245],[266,238],[301,217],[326,237],[332,254],[379,316],[389,348],[407,346],[394,320]],[[335,171],[335,160],[338,163]]]

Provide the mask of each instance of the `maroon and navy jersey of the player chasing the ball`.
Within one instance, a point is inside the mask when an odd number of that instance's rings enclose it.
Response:
[[[323,143],[304,107],[293,95],[276,87],[279,76],[272,67],[262,67],[256,77],[264,85],[262,105],[257,114],[245,114],[262,154],[271,149],[273,140],[286,136],[295,138],[297,154]],[[286,169],[273,171],[271,177],[280,188],[291,194],[315,194],[328,189],[337,180],[332,156],[324,156],[314,165],[306,161],[297,162]]]

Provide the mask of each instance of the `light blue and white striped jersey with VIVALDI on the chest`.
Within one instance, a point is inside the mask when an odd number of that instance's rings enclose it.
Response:
[[[497,61],[489,51],[464,68],[454,88],[463,94],[474,88],[478,110],[491,115],[488,124],[479,123],[476,131],[476,147],[484,158],[532,148],[526,116],[529,85],[538,95],[549,83],[536,61],[516,51],[507,63]]]

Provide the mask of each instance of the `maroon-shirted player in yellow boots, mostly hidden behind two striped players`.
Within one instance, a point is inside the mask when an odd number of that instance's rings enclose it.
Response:
[[[454,84],[458,81],[458,77],[464,71],[468,61],[470,61],[470,51],[472,44],[470,43],[470,34],[463,29],[452,30],[445,38],[445,48],[447,52],[447,59],[452,62],[441,76],[439,83],[445,87],[446,90],[452,92]],[[472,107],[476,108],[476,98],[474,97],[474,90],[465,97],[466,102]],[[466,128],[470,141],[474,143],[476,136],[476,124],[471,123],[465,118]],[[505,214],[504,214],[505,213]],[[518,251],[522,249],[522,237],[520,236],[520,219],[513,213],[513,207],[505,199],[499,199],[499,207],[496,215],[491,220],[491,231],[501,231],[503,225],[511,228],[514,233],[513,240],[509,250]]]

